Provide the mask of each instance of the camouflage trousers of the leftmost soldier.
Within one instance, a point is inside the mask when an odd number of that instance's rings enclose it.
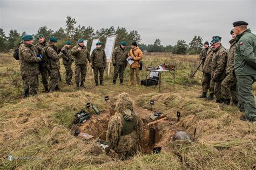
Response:
[[[29,95],[36,95],[38,89],[38,75],[22,76],[24,93]]]

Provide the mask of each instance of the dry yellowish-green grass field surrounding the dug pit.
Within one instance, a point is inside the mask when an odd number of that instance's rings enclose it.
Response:
[[[88,103],[75,85],[66,86],[64,67],[61,66],[60,91],[43,93],[39,83],[38,95],[23,99],[23,85],[19,63],[11,54],[0,54],[0,168],[4,169],[79,169],[79,168],[127,168],[127,169],[255,169],[256,125],[240,121],[241,112],[231,106],[222,108],[215,101],[198,100],[201,94],[201,72],[194,79],[191,74],[199,65],[197,55],[173,55],[169,53],[145,54],[145,68],[159,63],[176,66],[176,87],[172,76],[162,75],[161,91],[158,87],[127,86],[129,69],[125,70],[124,85],[112,85],[111,74],[104,76],[104,86],[95,87],[89,68],[86,89],[91,102],[102,112],[93,115],[84,125],[73,125],[73,116]],[[72,66],[74,67],[74,66]],[[74,82],[74,80],[73,80]],[[255,85],[254,95],[255,95]],[[125,161],[106,155],[95,144],[97,138],[104,139],[107,121],[113,113],[118,94],[129,93],[135,110],[142,117],[144,139],[142,149],[133,158]],[[110,101],[105,102],[104,96]],[[154,111],[163,112],[168,120],[155,126],[160,141],[155,146],[162,148],[159,154],[149,152],[147,145],[150,100]],[[176,121],[177,111],[181,119]],[[92,141],[78,139],[72,135],[74,129],[91,133]],[[193,136],[195,141],[172,141],[179,130]],[[9,161],[8,155],[15,158]]]

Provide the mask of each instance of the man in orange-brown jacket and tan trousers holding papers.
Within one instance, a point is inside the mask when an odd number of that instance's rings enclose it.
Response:
[[[143,59],[143,53],[139,49],[136,42],[132,42],[131,47],[132,49],[130,50],[130,56],[132,57],[131,60],[133,60],[134,62],[132,63],[132,65],[130,65],[130,83],[128,85],[129,86],[133,85],[133,75],[135,71],[136,78],[137,78],[136,86],[139,86],[139,67],[140,67],[139,61]]]

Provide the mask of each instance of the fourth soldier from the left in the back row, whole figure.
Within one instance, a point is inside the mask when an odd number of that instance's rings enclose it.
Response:
[[[70,41],[65,42],[65,46],[62,48],[62,51],[59,53],[59,58],[63,59],[63,65],[66,69],[66,84],[71,85],[73,84],[72,80],[72,68],[71,64],[74,61],[71,55],[70,47],[72,43]]]

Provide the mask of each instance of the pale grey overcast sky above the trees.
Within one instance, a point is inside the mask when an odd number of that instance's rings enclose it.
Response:
[[[66,16],[95,31],[110,26],[137,30],[144,44],[157,38],[163,45],[175,45],[179,39],[188,44],[194,36],[211,41],[218,35],[229,48],[232,23],[237,20],[246,21],[256,32],[256,0],[0,0],[0,28],[5,34],[11,29],[35,34],[44,25],[56,31],[65,27]]]

